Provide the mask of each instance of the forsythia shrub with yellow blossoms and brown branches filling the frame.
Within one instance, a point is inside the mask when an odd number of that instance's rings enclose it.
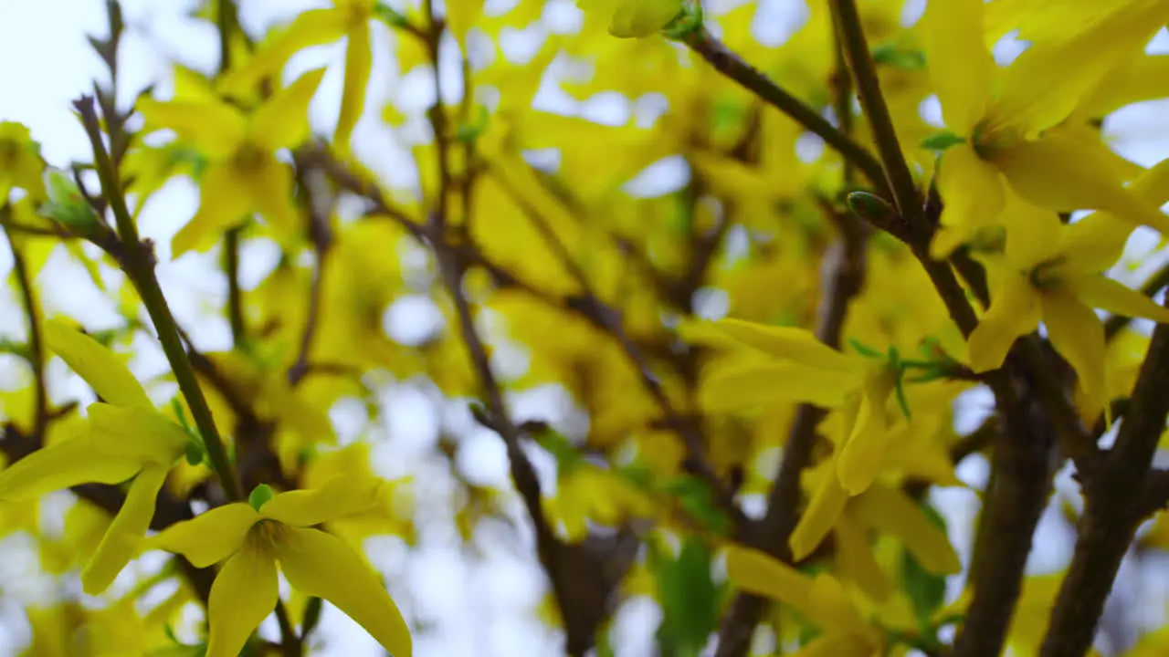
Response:
[[[631,653],[637,599],[666,656],[1169,650],[1104,614],[1169,548],[1169,160],[1107,130],[1169,97],[1169,1],[247,4],[192,14],[213,68],[126,89],[108,2],[88,161],[0,117],[2,531],[89,596],[28,606],[23,655],[318,653],[325,606],[422,653],[386,538],[499,520],[574,656]],[[47,303],[58,247],[116,321]],[[208,254],[180,316],[159,272]],[[462,421],[387,435],[390,386]],[[1075,539],[1037,573],[1047,509]]]

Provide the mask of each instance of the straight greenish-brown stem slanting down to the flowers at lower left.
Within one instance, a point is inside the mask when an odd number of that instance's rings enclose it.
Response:
[[[75,106],[81,113],[82,124],[85,126],[85,132],[89,134],[94,148],[94,160],[102,181],[102,194],[110,203],[110,209],[117,222],[118,238],[122,245],[122,251],[117,254],[120,256],[119,264],[138,289],[146,312],[154,324],[158,339],[162,344],[162,352],[174,371],[174,378],[182,396],[187,400],[187,406],[191,407],[191,415],[194,417],[195,426],[199,428],[207,448],[207,458],[220,478],[223,492],[230,500],[240,502],[243,499],[240,480],[228,459],[223,438],[220,437],[219,429],[215,427],[207,399],[203,396],[202,388],[199,387],[199,380],[195,379],[195,371],[191,367],[187,352],[182,348],[179,326],[171,313],[171,306],[167,305],[162,288],[158,283],[158,276],[154,275],[153,249],[139,238],[133,216],[130,214],[130,208],[126,207],[118,173],[102,140],[102,129],[94,109],[94,98],[83,96],[75,103]]]

